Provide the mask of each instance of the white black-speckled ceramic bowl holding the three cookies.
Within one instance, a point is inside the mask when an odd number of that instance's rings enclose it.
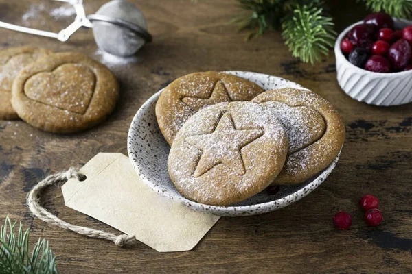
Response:
[[[296,83],[279,77],[244,71],[227,71],[259,84],[265,90],[275,88],[302,88]],[[210,212],[219,216],[248,216],[271,212],[299,201],[330,175],[339,156],[324,171],[307,182],[295,186],[280,186],[276,195],[262,191],[257,195],[233,206],[208,206],[185,199],[170,181],[167,160],[170,147],[163,138],[157,125],[155,105],[161,91],[150,97],[141,106],[130,125],[128,132],[128,154],[130,161],[141,179],[159,195],[181,201],[193,210]]]

